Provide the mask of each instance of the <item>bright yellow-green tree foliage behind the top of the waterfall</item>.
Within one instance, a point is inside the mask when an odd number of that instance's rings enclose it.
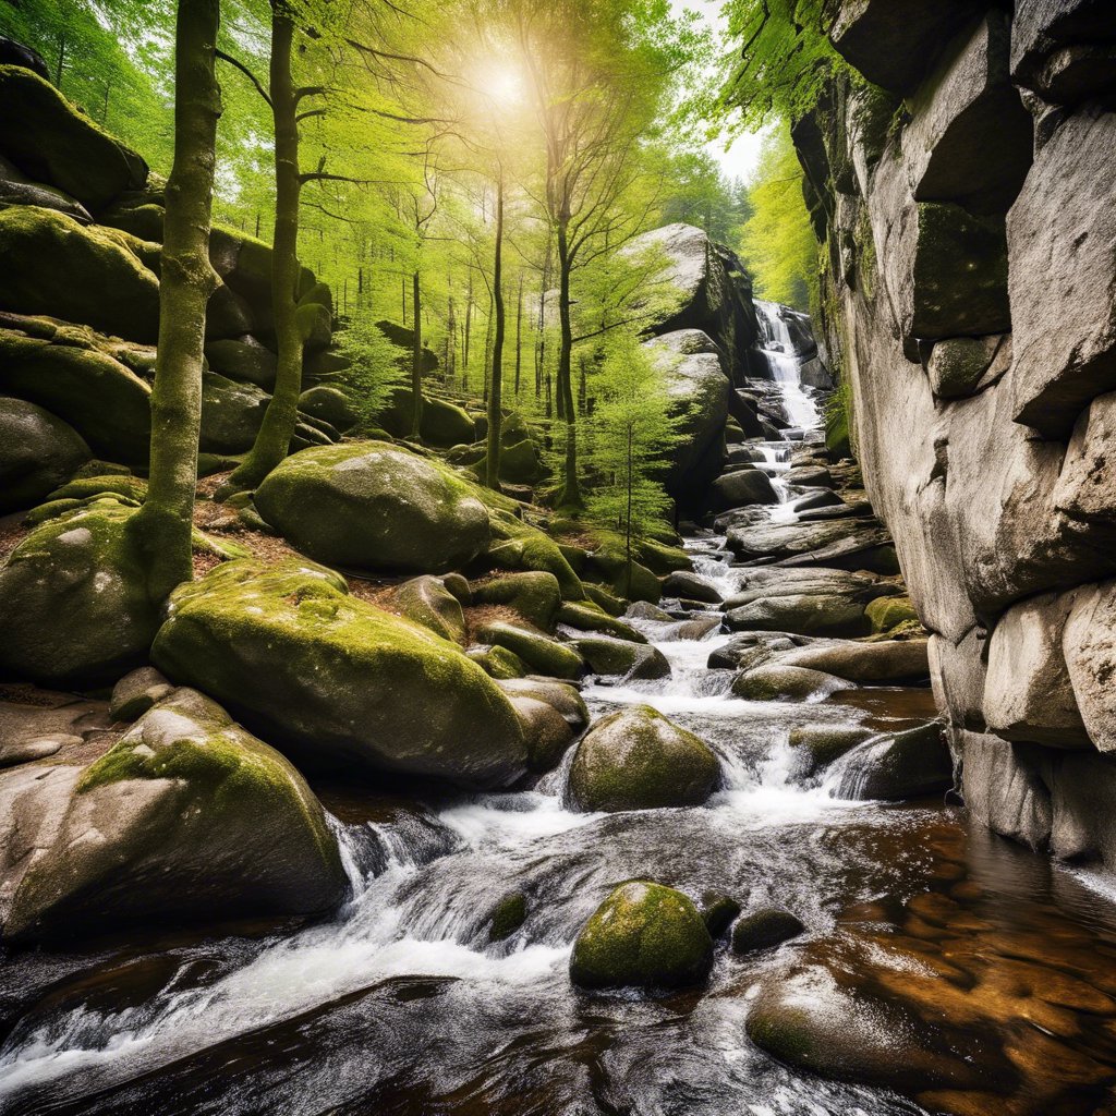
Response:
[[[802,199],[802,167],[786,125],[764,140],[748,199],[752,215],[741,230],[740,254],[757,294],[808,311],[817,296],[818,244]]]

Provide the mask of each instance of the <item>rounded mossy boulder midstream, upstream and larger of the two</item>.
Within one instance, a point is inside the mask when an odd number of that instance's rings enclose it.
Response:
[[[569,799],[580,810],[701,806],[721,777],[704,741],[650,705],[597,721],[577,745]]]

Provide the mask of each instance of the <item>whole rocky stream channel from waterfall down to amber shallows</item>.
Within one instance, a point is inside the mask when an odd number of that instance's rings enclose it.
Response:
[[[711,527],[691,525],[694,573],[667,581],[658,608],[629,612],[668,676],[591,675],[581,694],[593,720],[650,705],[700,737],[720,761],[712,798],[571,809],[573,748],[511,793],[369,798],[315,782],[352,885],[343,908],[287,932],[131,935],[80,955],[9,958],[0,1108],[1113,1110],[1116,906],[1103,877],[970,829],[946,793],[944,744],[888,786],[882,758],[896,740],[925,741],[936,715],[926,679],[895,665],[902,636],[855,644],[891,665],[873,676],[846,663],[867,679],[854,686],[836,668],[786,665],[831,657],[830,641],[738,634],[756,609],[777,628],[790,599],[780,588],[825,597],[819,615],[830,617],[831,598],[902,591],[882,573],[886,539],[855,475],[815,456],[818,393],[800,382],[786,321],[770,304],[758,312],[772,379],[750,386],[792,425],[783,440],[730,452],[714,488],[766,474],[778,502],[731,510],[727,496]],[[833,568],[795,565],[819,547]],[[858,573],[863,560],[877,571]],[[798,615],[797,631],[809,629]],[[729,896],[745,913],[786,910],[805,929],[757,952],[735,952],[722,933],[698,989],[584,993],[570,982],[574,941],[602,896],[632,878],[706,904]],[[526,917],[493,941],[492,913],[510,894],[526,899]]]

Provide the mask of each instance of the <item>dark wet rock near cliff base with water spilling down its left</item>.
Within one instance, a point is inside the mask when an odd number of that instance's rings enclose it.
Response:
[[[953,786],[953,759],[936,721],[869,740],[844,762],[839,798],[902,802]]]

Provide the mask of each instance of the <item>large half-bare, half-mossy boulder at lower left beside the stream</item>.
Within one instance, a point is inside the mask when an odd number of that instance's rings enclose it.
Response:
[[[337,839],[306,781],[194,691],[145,713],[70,786],[52,804],[55,839],[19,881],[9,939],[317,914],[345,896]]]

